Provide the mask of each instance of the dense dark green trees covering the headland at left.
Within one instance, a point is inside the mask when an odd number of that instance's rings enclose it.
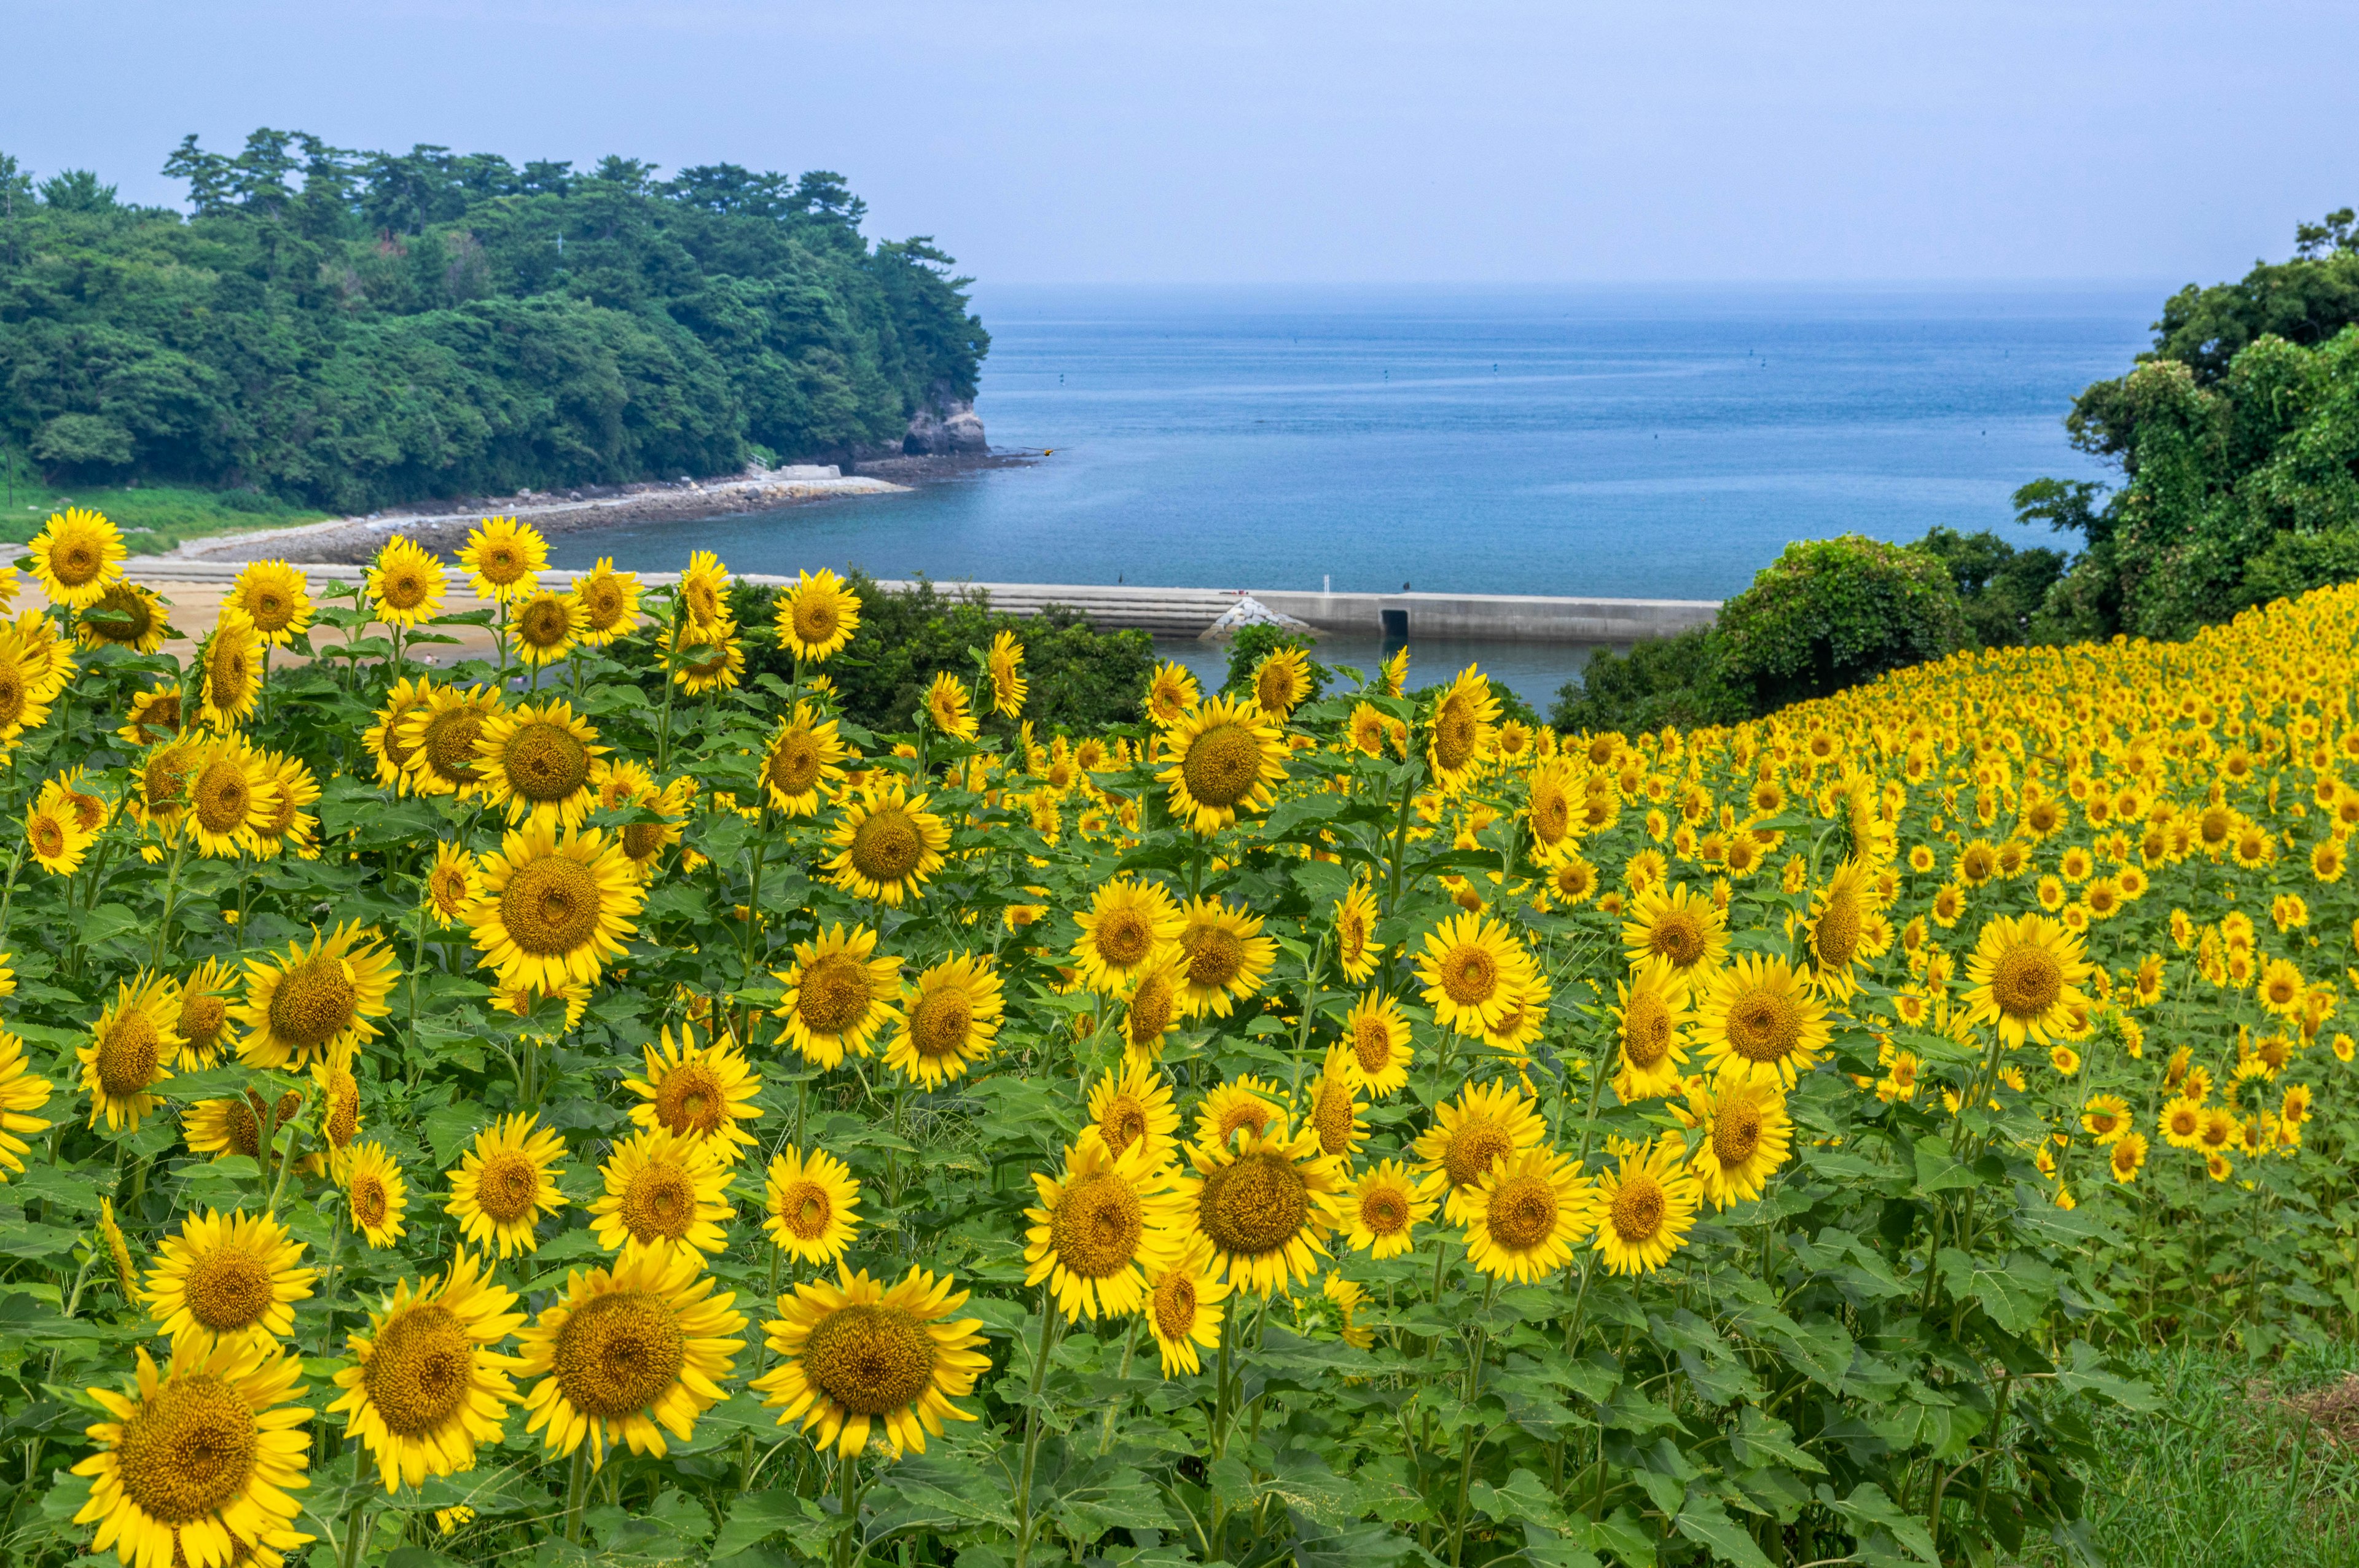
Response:
[[[517,167],[257,130],[191,217],[0,156],[0,441],[59,483],[370,509],[899,448],[988,337],[837,174]]]

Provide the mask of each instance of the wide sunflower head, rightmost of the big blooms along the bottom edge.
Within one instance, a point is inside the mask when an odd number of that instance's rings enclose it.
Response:
[[[778,1297],[781,1316],[762,1327],[781,1361],[748,1386],[778,1410],[781,1427],[816,1427],[819,1448],[842,1460],[856,1460],[878,1427],[894,1457],[925,1452],[925,1436],[941,1436],[944,1419],[974,1419],[951,1401],[991,1370],[974,1349],[981,1320],[951,1318],[965,1302],[951,1276],[911,1266],[887,1287],[837,1264],[837,1283],[811,1280]]]

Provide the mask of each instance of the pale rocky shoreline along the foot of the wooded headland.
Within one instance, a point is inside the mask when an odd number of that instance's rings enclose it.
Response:
[[[632,486],[583,486],[576,490],[519,490],[517,495],[465,495],[422,502],[401,512],[366,516],[330,516],[318,523],[255,528],[250,533],[212,533],[182,540],[172,549],[142,561],[252,561],[283,559],[300,566],[366,564],[392,535],[408,535],[436,556],[451,556],[467,533],[486,516],[514,516],[543,535],[594,533],[625,523],[689,523],[708,516],[736,516],[800,507],[847,495],[901,495],[927,483],[946,483],[981,469],[1024,467],[1031,453],[998,450],[970,457],[880,457],[859,465],[856,474],[837,474],[833,465],[783,467],[729,479],[679,479]]]

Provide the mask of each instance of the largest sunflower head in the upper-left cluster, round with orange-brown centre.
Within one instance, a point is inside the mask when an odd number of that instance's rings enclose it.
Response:
[[[637,931],[646,901],[623,844],[602,828],[587,832],[528,821],[484,854],[484,894],[469,927],[502,986],[543,993],[594,986]]]

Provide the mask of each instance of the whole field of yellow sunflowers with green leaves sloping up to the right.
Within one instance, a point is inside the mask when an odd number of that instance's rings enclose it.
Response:
[[[1071,736],[507,519],[451,667],[406,540],[184,637],[94,514],[19,571],[12,1563],[2095,1561],[2118,1356],[2359,1323],[2354,589]]]

